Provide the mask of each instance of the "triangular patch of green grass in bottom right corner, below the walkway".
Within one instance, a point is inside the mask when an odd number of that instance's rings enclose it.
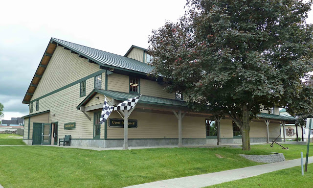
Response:
[[[312,188],[312,179],[313,164],[308,164],[308,172],[304,176],[301,174],[301,166],[296,166],[206,188]]]

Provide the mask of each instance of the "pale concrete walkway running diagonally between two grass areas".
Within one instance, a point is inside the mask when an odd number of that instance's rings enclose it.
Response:
[[[305,163],[305,158],[304,158]],[[313,157],[309,157],[309,163],[313,163]],[[283,161],[271,164],[261,164],[257,166],[249,166],[245,168],[237,168],[233,170],[226,170],[222,172],[214,172],[209,174],[201,174],[196,176],[187,176],[182,178],[175,178],[170,180],[162,180],[146,184],[130,186],[127,188],[203,188],[230,182],[234,180],[249,178],[276,170],[300,166],[301,159],[294,159],[290,161]],[[299,173],[301,173],[299,171]]]

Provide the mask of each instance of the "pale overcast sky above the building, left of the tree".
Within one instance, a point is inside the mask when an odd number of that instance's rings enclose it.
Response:
[[[148,47],[153,29],[184,14],[185,0],[53,0],[1,2],[0,102],[4,118],[28,114],[22,104],[51,37],[124,55]],[[308,23],[313,23],[310,12]]]

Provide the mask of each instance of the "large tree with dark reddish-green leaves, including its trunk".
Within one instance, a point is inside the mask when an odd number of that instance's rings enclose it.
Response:
[[[250,121],[261,109],[301,98],[313,70],[312,1],[187,0],[178,23],[149,38],[155,74],[184,94],[190,108],[223,113],[250,150]]]

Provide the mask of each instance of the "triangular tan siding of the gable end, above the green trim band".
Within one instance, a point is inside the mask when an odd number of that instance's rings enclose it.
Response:
[[[78,54],[57,47],[31,100],[99,70],[98,65],[88,63],[87,59],[78,57]]]

